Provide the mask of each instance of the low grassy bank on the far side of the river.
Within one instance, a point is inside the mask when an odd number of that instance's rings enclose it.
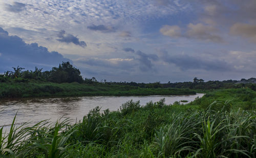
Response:
[[[140,95],[189,95],[190,89],[140,88],[131,85],[104,83],[52,83],[24,79],[0,82],[0,98],[54,97],[54,96],[140,96]]]

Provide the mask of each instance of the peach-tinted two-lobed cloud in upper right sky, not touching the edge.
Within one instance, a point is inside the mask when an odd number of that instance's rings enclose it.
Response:
[[[223,39],[219,36],[218,30],[212,26],[204,25],[201,23],[198,24],[188,24],[186,28],[186,32],[181,34],[181,29],[179,26],[169,26],[164,25],[160,32],[169,37],[185,37],[185,38],[192,38],[198,39],[203,41],[211,41],[211,42],[222,42]]]

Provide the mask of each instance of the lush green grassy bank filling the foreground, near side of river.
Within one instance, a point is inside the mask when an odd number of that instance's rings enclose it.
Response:
[[[242,96],[247,93],[253,92],[242,89]],[[7,157],[255,157],[256,112],[244,110],[243,100],[237,108],[240,95],[240,89],[217,91],[187,105],[166,105],[164,99],[145,106],[129,101],[118,111],[100,112],[97,107],[75,125],[64,120],[24,125],[19,131],[12,126],[5,137],[0,129],[0,153]],[[233,96],[238,100],[225,101]],[[215,97],[219,101],[204,104]]]

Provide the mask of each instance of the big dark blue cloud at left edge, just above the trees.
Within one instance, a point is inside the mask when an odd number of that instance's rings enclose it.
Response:
[[[62,61],[70,61],[58,52],[49,52],[47,48],[38,46],[37,43],[27,44],[18,36],[9,36],[1,27],[0,53],[0,73],[16,66],[29,70],[33,70],[35,66],[50,70]]]

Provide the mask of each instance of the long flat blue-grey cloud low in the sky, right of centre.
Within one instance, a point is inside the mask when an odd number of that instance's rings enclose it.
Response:
[[[231,66],[223,60],[207,59],[200,56],[189,56],[186,54],[169,55],[167,51],[161,51],[161,59],[167,63],[175,64],[181,70],[206,70],[206,71],[228,71]]]

